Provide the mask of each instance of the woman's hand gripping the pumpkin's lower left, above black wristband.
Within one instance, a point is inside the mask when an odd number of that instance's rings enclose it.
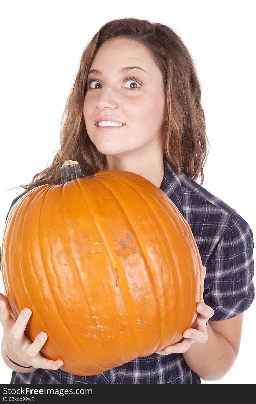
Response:
[[[11,355],[15,356],[15,358],[19,358],[17,363],[23,366],[33,366],[34,368],[51,370],[58,369],[63,365],[63,360],[47,359],[40,352],[40,349],[42,349],[42,346],[47,340],[47,333],[40,332],[34,339],[34,342],[25,334],[25,328],[32,314],[32,311],[28,309],[28,315],[25,315],[26,310],[27,308],[23,309],[16,320],[7,297],[0,293],[0,322],[4,329],[8,356],[10,356],[12,360],[14,359]],[[41,335],[43,337],[42,339],[40,339]],[[16,360],[14,361],[16,362]],[[61,365],[57,366],[59,362],[61,362]]]

